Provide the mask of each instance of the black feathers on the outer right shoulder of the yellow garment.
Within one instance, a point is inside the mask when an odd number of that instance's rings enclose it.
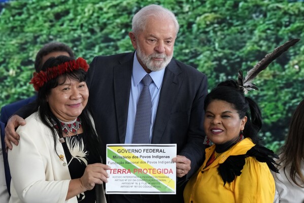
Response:
[[[267,148],[263,146],[254,146],[248,152],[246,153],[248,156],[254,156],[255,159],[259,162],[264,162],[268,165],[269,169],[271,169],[274,172],[279,172],[278,168],[276,168],[276,165],[278,165],[274,158],[278,159],[279,156],[276,155],[272,150],[268,150]]]

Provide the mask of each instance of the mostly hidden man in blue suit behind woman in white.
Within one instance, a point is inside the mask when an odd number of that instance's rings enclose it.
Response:
[[[74,57],[74,52],[72,49],[66,44],[60,42],[50,42],[45,44],[37,53],[35,59],[35,70],[39,72],[42,65],[46,60],[48,60],[52,56],[58,55],[66,55],[70,57]],[[1,108],[1,116],[0,121],[3,123],[7,123],[11,115],[13,115],[18,109],[22,106],[27,105],[36,100],[36,95],[27,99],[23,99],[17,102],[13,102]]]

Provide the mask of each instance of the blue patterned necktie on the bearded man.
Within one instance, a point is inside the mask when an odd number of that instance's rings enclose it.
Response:
[[[144,88],[137,103],[132,143],[150,143],[150,126],[152,116],[152,100],[149,86],[153,82],[149,74],[142,79]]]

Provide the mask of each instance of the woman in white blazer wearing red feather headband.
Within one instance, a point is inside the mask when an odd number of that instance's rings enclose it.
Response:
[[[31,79],[37,111],[20,126],[9,151],[10,202],[106,202],[102,143],[86,107],[89,65],[82,58],[51,57]]]

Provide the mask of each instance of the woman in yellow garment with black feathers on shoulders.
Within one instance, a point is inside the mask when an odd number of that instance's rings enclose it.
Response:
[[[259,145],[261,112],[237,81],[220,83],[205,99],[204,128],[214,144],[184,190],[185,202],[273,202],[273,151]],[[251,118],[249,117],[251,115]]]

